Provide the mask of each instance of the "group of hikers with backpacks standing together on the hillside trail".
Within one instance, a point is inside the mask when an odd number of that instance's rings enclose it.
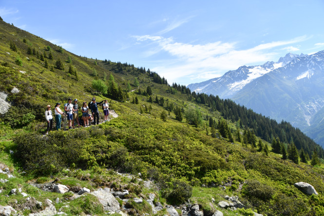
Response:
[[[92,98],[92,101],[87,104],[87,102],[82,103],[81,112],[82,117],[79,119],[79,106],[77,104],[78,100],[74,99],[74,103],[72,103],[72,99],[69,98],[68,102],[64,104],[64,112],[61,111],[60,105],[61,103],[56,103],[54,111],[55,111],[55,120],[56,120],[56,130],[61,129],[61,120],[62,116],[67,118],[68,121],[68,127],[69,129],[72,129],[74,127],[89,127],[89,120],[90,122],[93,120],[93,124],[96,123],[99,124],[99,110],[98,105],[102,104],[102,109],[104,113],[104,122],[108,121],[108,115],[109,115],[109,105],[107,100],[102,100],[101,102],[96,102],[95,98]],[[47,129],[46,134],[48,134],[49,131],[52,131],[53,126],[53,115],[51,111],[51,105],[47,105],[46,111],[45,111],[45,118],[47,122]]]

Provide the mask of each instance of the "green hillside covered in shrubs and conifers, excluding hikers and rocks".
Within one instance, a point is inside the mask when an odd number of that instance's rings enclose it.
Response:
[[[80,185],[91,182],[92,189],[113,188],[115,170],[154,181],[161,202],[179,205],[190,199],[206,215],[217,206],[211,199],[222,201],[225,195],[238,196],[250,209],[221,210],[226,214],[324,214],[319,159],[324,150],[289,123],[217,96],[191,93],[145,67],[76,56],[4,21],[0,39],[0,92],[12,105],[0,118],[0,158],[27,173],[0,183],[0,205],[14,199],[23,204],[22,197],[5,195],[17,184],[32,191],[27,182],[35,178],[50,181],[68,175]],[[42,136],[47,104],[54,107],[68,98],[89,102],[93,97],[108,98],[119,117]],[[313,185],[319,195],[295,188],[300,181]],[[130,188],[134,196],[145,195]],[[85,209],[70,214],[104,214]]]

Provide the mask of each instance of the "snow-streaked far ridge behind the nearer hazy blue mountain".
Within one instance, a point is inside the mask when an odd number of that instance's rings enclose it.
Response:
[[[296,57],[305,56],[288,53],[277,62],[267,61],[263,65],[241,66],[237,70],[229,71],[220,78],[210,79],[200,83],[188,85],[191,91],[206,94],[217,94],[221,98],[231,98],[237,91],[254,79],[262,77],[270,71],[282,67]]]

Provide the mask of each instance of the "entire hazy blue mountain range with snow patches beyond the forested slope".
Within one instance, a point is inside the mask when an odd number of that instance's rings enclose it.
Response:
[[[241,66],[223,77],[190,84],[191,91],[231,98],[256,113],[285,120],[324,146],[324,51],[288,53],[278,62]]]

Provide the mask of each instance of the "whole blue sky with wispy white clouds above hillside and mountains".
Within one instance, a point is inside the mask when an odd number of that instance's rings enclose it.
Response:
[[[0,0],[0,17],[76,55],[184,85],[324,50],[324,0]]]

